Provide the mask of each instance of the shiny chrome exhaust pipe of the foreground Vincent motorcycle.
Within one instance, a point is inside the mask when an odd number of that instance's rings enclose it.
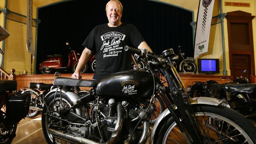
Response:
[[[57,131],[51,128],[49,128],[48,130],[49,130],[49,133],[52,134],[52,137],[65,140],[67,142],[71,142],[74,144],[113,144],[116,142],[117,138],[120,135],[120,131],[122,129],[122,124],[123,124],[123,117],[124,117],[124,114],[123,114],[122,104],[118,104],[117,105],[117,124],[115,125],[115,131],[113,131],[111,138],[105,143],[95,142],[93,140],[71,135],[69,133],[62,133],[61,131]]]

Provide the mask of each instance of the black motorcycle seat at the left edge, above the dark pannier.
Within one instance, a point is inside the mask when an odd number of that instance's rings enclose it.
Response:
[[[17,81],[0,80],[0,92],[17,90]]]

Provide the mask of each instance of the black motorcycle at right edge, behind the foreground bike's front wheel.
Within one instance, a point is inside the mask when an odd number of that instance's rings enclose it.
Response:
[[[228,102],[232,109],[243,114],[246,118],[256,121],[256,84],[248,83],[248,79],[243,78],[242,75],[234,80],[221,79],[230,81],[223,84],[212,80],[193,82],[188,90],[189,97],[218,98]]]

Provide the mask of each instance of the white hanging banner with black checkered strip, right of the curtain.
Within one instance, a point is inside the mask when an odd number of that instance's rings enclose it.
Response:
[[[200,0],[197,13],[194,58],[208,52],[214,0]]]

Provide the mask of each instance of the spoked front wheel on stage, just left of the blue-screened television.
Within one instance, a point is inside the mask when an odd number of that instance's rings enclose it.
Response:
[[[180,63],[180,72],[197,72],[197,65],[193,59],[185,59],[186,63],[182,61]]]

